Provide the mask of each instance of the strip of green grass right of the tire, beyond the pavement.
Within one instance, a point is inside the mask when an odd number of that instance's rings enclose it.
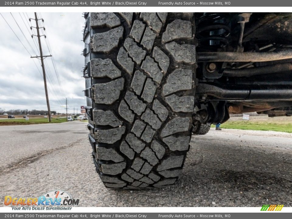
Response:
[[[211,127],[215,127],[212,125]],[[227,121],[221,124],[220,128],[225,129],[243,129],[243,130],[262,130],[262,131],[280,131],[292,133],[292,123],[283,121]]]

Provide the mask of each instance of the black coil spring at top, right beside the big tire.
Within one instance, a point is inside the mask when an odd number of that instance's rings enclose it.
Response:
[[[196,38],[200,45],[226,47],[230,35],[228,13],[204,13],[197,20]]]

